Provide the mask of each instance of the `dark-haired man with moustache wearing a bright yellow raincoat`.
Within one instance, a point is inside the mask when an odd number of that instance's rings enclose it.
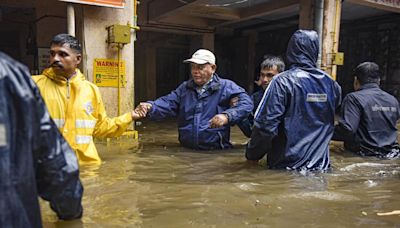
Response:
[[[56,35],[51,41],[50,67],[33,79],[79,163],[101,163],[93,137],[120,136],[140,116],[134,111],[115,118],[107,116],[98,87],[77,68],[81,52],[78,39]]]

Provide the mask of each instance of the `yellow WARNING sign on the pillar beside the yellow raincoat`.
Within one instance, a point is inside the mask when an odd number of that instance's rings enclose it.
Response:
[[[125,87],[125,61],[114,59],[94,59],[93,82],[97,86],[118,88],[118,67],[120,75],[120,87]]]

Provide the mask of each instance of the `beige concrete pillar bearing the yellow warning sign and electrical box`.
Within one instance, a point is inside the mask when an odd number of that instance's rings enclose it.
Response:
[[[133,1],[126,1],[123,9],[109,7],[95,7],[82,5],[80,16],[82,23],[82,36],[84,54],[87,56],[85,69],[86,77],[93,81],[93,62],[96,58],[117,59],[117,49],[114,45],[106,43],[106,27],[113,24],[133,25]],[[121,61],[126,64],[126,85],[121,88],[121,114],[131,111],[134,107],[134,31],[131,32],[131,43],[126,44],[121,50]],[[118,114],[118,88],[100,87],[100,92],[109,116]]]

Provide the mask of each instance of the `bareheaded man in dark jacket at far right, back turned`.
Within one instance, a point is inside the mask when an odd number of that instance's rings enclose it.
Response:
[[[343,99],[339,124],[333,140],[344,141],[345,148],[363,156],[400,156],[396,122],[399,102],[379,88],[379,66],[364,62],[354,69],[354,90]]]

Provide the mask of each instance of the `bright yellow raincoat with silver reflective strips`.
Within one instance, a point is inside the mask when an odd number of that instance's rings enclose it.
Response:
[[[131,113],[107,117],[98,87],[87,81],[79,69],[69,80],[55,75],[52,68],[33,79],[79,163],[101,163],[93,137],[120,136],[132,122]]]

